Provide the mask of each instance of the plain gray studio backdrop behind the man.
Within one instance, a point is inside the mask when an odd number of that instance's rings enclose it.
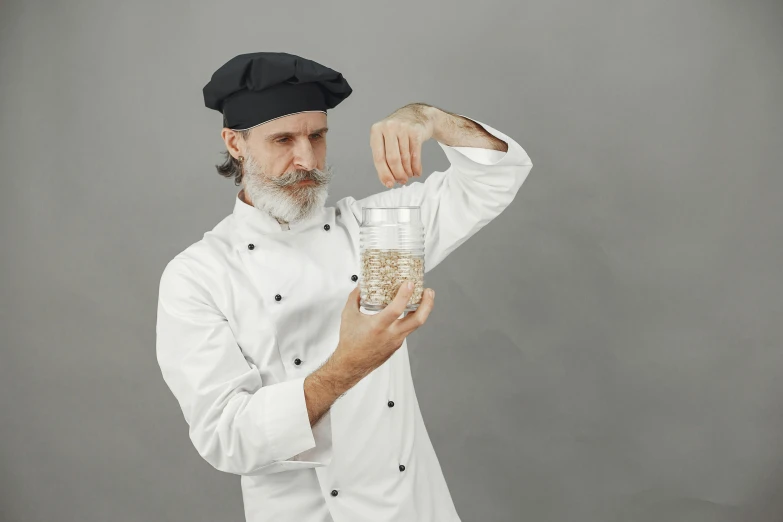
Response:
[[[3,0],[3,522],[242,520],[154,327],[233,205],[201,88],[257,50],[355,90],[330,205],[383,190],[370,125],[414,101],[533,160],[409,338],[465,522],[783,519],[781,2]]]

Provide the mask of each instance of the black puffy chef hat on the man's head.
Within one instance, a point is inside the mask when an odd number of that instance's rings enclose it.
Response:
[[[204,105],[229,129],[246,130],[305,111],[326,112],[352,92],[343,75],[288,53],[240,54],[204,86]]]

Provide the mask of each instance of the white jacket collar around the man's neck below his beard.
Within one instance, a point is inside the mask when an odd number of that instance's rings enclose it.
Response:
[[[236,246],[247,248],[247,245],[258,240],[260,236],[283,236],[284,234],[296,234],[306,229],[324,228],[329,225],[334,229],[335,208],[323,207],[312,216],[301,221],[283,224],[277,221],[271,214],[259,210],[253,205],[248,205],[239,197],[242,191],[237,193],[234,202],[234,222]],[[324,231],[326,233],[327,231]]]

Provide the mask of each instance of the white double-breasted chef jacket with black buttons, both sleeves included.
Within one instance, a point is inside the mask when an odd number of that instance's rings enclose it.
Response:
[[[474,120],[475,121],[475,120]],[[163,271],[157,359],[199,454],[241,476],[248,522],[459,522],[422,420],[407,343],[311,427],[304,379],[335,350],[360,272],[362,207],[420,206],[428,272],[499,215],[532,163],[440,144],[423,182],[281,225],[234,211]]]

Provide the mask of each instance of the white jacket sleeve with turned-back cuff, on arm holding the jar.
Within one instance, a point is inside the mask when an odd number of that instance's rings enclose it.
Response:
[[[310,426],[304,378],[264,385],[210,293],[181,259],[166,266],[159,290],[157,360],[199,454],[237,475],[327,465],[331,416]]]

